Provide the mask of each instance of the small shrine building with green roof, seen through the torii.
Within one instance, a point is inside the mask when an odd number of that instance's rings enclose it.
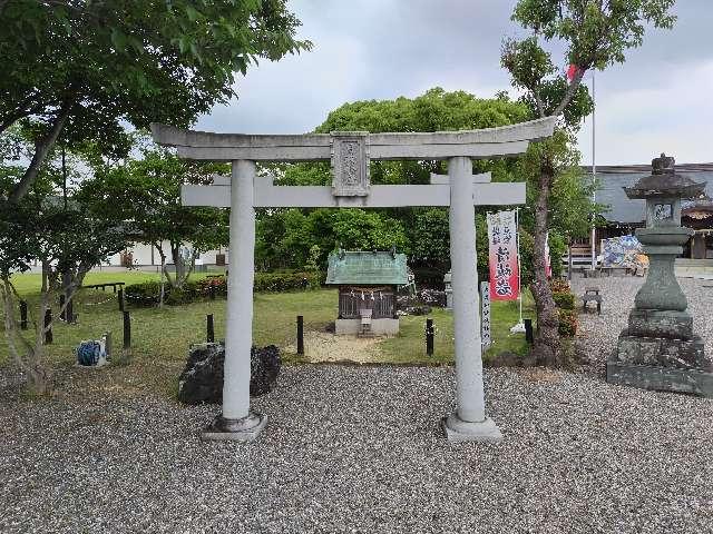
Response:
[[[406,255],[395,250],[330,254],[325,284],[339,287],[335,334],[397,335],[397,289],[408,283]]]

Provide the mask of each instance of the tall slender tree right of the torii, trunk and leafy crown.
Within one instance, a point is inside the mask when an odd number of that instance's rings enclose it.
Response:
[[[604,70],[625,61],[626,51],[643,43],[645,24],[671,28],[675,0],[519,0],[512,20],[531,32],[521,40],[506,40],[501,63],[512,85],[524,91],[522,102],[531,117],[559,117],[559,130],[551,139],[534,144],[525,159],[526,176],[536,185],[534,207],[534,281],[537,336],[534,354],[546,365],[561,364],[557,315],[545,275],[545,237],[551,216],[551,197],[561,170],[570,167],[567,140],[592,100],[582,79],[587,70]],[[566,47],[566,63],[577,67],[567,79],[555,67],[551,53],[540,42]]]

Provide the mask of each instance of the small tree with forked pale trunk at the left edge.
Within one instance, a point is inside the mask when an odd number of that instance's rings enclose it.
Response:
[[[12,168],[4,168],[0,190],[12,184]],[[20,172],[21,168],[16,167]],[[80,195],[68,199],[55,195],[48,174],[40,175],[21,201],[6,206],[0,217],[0,301],[4,316],[4,336],[10,355],[28,379],[35,394],[45,394],[51,385],[51,372],[45,362],[45,314],[60,291],[67,299],[65,313],[85,275],[96,265],[127,245],[124,228],[107,217],[92,217]],[[42,267],[40,298],[30,308],[33,339],[18,328],[16,308],[19,296],[11,281],[13,273],[30,269],[38,260]]]

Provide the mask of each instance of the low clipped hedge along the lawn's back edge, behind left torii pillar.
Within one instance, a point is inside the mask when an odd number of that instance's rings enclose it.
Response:
[[[320,273],[256,273],[254,290],[256,293],[291,291],[320,287]],[[206,300],[211,296],[227,295],[227,279],[224,276],[188,280],[183,287],[164,286],[164,303],[175,306]],[[160,299],[160,284],[145,281],[124,288],[124,298],[135,306],[155,306]]]

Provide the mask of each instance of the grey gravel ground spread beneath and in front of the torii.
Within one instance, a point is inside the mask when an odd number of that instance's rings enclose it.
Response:
[[[583,332],[614,336],[641,280],[596,283],[605,313]],[[453,382],[451,367],[287,367],[253,403],[270,422],[247,445],[197,438],[215,407],[0,398],[0,532],[713,532],[712,400],[488,369],[505,439],[450,445]]]

